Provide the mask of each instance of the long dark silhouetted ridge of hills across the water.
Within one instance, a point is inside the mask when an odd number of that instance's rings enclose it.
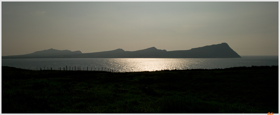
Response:
[[[189,50],[166,51],[150,47],[137,51],[116,49],[94,53],[48,49],[25,55],[2,56],[2,58],[239,58],[227,43],[208,45]]]

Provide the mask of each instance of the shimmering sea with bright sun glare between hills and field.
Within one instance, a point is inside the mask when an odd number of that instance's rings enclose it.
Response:
[[[35,58],[2,59],[2,66],[23,69],[118,70],[119,72],[215,69],[240,66],[278,66],[278,56],[241,56],[242,58]]]

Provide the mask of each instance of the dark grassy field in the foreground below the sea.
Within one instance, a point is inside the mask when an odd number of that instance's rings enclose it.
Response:
[[[2,66],[2,113],[278,113],[278,66],[23,70]]]

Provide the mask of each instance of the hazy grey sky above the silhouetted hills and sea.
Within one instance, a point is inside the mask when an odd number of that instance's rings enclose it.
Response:
[[[228,43],[278,55],[278,2],[2,2],[2,56]]]

